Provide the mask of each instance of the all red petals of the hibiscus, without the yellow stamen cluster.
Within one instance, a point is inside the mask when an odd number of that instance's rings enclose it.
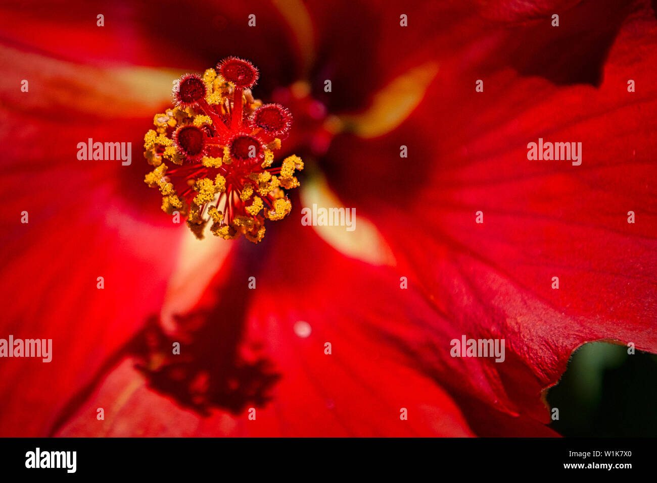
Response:
[[[555,434],[575,348],[657,350],[656,20],[606,3],[3,7],[0,337],[53,357],[2,360],[2,434]],[[274,162],[306,164],[258,244],[171,223],[137,156],[172,81],[229,56],[294,117]]]

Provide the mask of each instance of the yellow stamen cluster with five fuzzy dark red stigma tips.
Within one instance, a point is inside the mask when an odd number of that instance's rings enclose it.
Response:
[[[173,88],[175,106],[156,114],[156,129],[144,137],[154,167],[145,182],[160,190],[162,210],[186,217],[198,238],[212,222],[215,236],[244,234],[257,243],[265,219],[283,219],[292,209],[284,190],[299,186],[294,171],[304,163],[292,155],[271,167],[292,115],[255,100],[250,87],[257,80],[258,70],[237,57],[202,77],[183,75]]]

